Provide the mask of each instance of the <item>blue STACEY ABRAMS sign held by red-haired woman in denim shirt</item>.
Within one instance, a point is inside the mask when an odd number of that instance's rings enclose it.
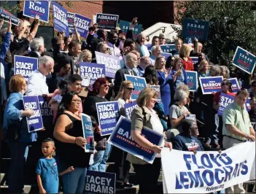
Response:
[[[24,109],[31,109],[34,115],[27,117],[28,133],[39,131],[44,128],[37,96],[23,96]]]

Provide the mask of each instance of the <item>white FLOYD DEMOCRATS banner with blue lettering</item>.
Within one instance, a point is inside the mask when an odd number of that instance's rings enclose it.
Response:
[[[214,193],[247,182],[255,160],[252,153],[255,153],[255,142],[241,143],[221,153],[170,152],[163,148],[163,186],[166,193]]]

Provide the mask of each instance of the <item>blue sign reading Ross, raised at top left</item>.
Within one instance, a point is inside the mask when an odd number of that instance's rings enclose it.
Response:
[[[49,22],[50,1],[24,1],[23,15],[35,18],[39,15],[39,20]]]

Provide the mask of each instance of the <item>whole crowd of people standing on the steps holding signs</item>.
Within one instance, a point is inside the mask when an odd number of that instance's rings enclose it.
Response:
[[[0,26],[3,23],[1,20]],[[95,24],[82,42],[77,31],[76,39],[58,32],[51,49],[46,51],[44,39],[35,37],[38,26],[38,16],[32,24],[21,18],[18,26],[9,22],[0,34],[2,137],[8,143],[11,158],[9,193],[23,192],[25,163],[33,174],[36,172],[39,193],[58,193],[59,176],[63,193],[82,193],[86,172],[106,171],[110,154],[115,162],[116,187],[133,186],[128,176],[132,164],[139,193],[158,193],[163,147],[196,153],[255,141],[255,129],[251,125],[256,120],[255,77],[240,69],[230,71],[227,66],[211,63],[198,39],[193,40],[193,45],[176,39],[175,50],[165,58],[160,47],[166,44],[163,34],[154,36],[147,47],[144,33],[133,39],[133,22],[126,36],[120,28],[106,31]],[[96,63],[96,51],[117,56],[125,61],[125,66],[117,70],[115,79],[101,77],[90,87],[82,87],[79,62]],[[14,55],[39,59],[38,69],[27,81],[20,74],[14,75]],[[198,63],[193,64],[191,56],[198,57]],[[203,95],[199,87],[197,92],[190,92],[186,71],[198,71],[198,77],[222,76],[222,91]],[[141,147],[157,153],[152,164],[112,147],[107,142],[109,136],[101,136],[96,103],[118,101],[120,115],[126,117],[124,105],[131,102],[134,86],[125,80],[125,74],[144,77],[149,86],[136,99],[139,107],[131,114],[131,136]],[[233,93],[230,77],[236,77],[243,89]],[[159,85],[160,93],[150,85]],[[235,100],[226,107],[223,116],[218,116],[221,93],[235,96]],[[43,96],[53,111],[53,117],[44,122],[42,131],[28,133],[26,117],[34,112],[23,109],[24,95]],[[157,101],[159,95],[161,103]],[[244,108],[247,98],[251,99],[249,112]],[[87,141],[82,133],[81,113],[89,115],[93,123],[96,141],[93,154],[83,150]],[[187,119],[187,115],[195,115],[196,120]],[[163,133],[163,145],[152,144],[141,136],[143,126]],[[225,191],[243,192],[242,184]]]

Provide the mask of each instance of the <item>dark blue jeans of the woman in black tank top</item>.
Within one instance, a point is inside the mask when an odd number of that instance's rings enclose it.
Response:
[[[63,175],[63,193],[82,194],[85,189],[85,176],[87,168],[74,167],[74,171]]]

